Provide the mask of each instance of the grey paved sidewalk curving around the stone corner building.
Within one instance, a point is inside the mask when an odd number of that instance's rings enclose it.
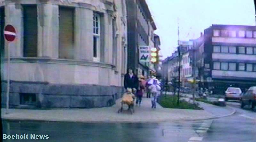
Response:
[[[156,109],[151,108],[149,98],[143,98],[141,106],[135,106],[135,113],[130,111],[117,113],[120,108],[120,100],[116,100],[116,105],[105,108],[91,109],[9,109],[10,113],[5,114],[2,109],[1,117],[7,120],[43,120],[43,121],[66,121],[66,122],[158,122],[170,120],[196,120],[215,117],[210,109],[217,106],[204,104],[205,110],[169,109],[162,108],[157,104]],[[124,110],[128,107],[124,105]],[[225,112],[226,114],[231,111]]]

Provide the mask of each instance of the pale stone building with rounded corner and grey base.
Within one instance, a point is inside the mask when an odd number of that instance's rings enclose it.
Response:
[[[10,49],[10,106],[93,108],[123,92],[127,20],[124,0],[1,1],[2,103]],[[7,44],[4,25],[16,28]]]

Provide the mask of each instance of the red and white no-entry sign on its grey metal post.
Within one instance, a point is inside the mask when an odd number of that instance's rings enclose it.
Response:
[[[9,113],[9,93],[10,93],[10,48],[9,42],[16,38],[16,30],[12,25],[6,25],[4,28],[4,37],[7,41],[7,92],[6,92],[6,114]]]

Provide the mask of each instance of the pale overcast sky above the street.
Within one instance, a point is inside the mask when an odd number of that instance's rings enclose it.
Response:
[[[146,0],[160,36],[163,58],[180,40],[195,39],[212,24],[255,25],[253,0]]]

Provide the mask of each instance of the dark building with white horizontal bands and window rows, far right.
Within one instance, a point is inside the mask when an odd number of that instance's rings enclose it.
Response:
[[[201,86],[223,94],[256,85],[256,26],[212,25],[198,44]]]

